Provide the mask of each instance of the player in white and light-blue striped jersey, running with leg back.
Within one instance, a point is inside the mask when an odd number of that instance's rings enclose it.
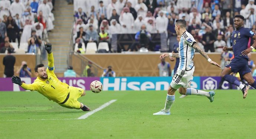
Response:
[[[181,95],[198,95],[206,96],[210,99],[210,102],[213,102],[213,96],[215,95],[214,91],[205,92],[202,90],[197,90],[193,88],[188,88],[189,82],[193,79],[193,73],[195,70],[193,57],[195,50],[197,50],[205,59],[207,59],[211,64],[220,67],[219,64],[212,61],[209,56],[200,49],[197,42],[194,40],[194,37],[186,31],[186,21],[183,19],[176,20],[175,31],[177,35],[181,36],[179,42],[179,51],[178,53],[164,53],[160,56],[160,59],[164,57],[180,57],[180,64],[178,66],[177,73],[174,75],[171,85],[167,90],[167,97],[165,101],[164,109],[160,112],[154,113],[153,115],[170,115],[171,105],[175,100],[175,91]]]

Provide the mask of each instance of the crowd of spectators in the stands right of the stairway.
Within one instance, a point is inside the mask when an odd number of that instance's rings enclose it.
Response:
[[[206,52],[222,52],[222,46],[232,46],[235,15],[244,16],[244,27],[256,30],[255,0],[74,0],[73,4],[73,42],[85,46],[109,43],[113,34],[136,34],[144,25],[148,33],[165,33],[171,52],[176,42],[175,21],[184,19],[187,31]]]

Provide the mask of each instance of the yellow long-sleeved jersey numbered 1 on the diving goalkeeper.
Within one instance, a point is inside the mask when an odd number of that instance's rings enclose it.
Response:
[[[54,73],[53,54],[48,54],[48,68],[46,69],[48,79],[42,81],[39,77],[32,84],[22,83],[26,90],[37,91],[57,103],[62,103],[70,92],[69,85],[60,82]]]

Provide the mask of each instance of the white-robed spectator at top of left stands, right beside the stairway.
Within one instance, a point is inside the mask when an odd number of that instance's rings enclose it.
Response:
[[[53,30],[53,29],[54,29],[54,26],[53,26],[53,23],[52,23],[52,22],[53,22],[53,20],[54,20],[54,16],[53,16],[53,14],[51,13],[50,6],[47,4],[47,0],[43,0],[43,3],[41,3],[41,4],[38,6],[37,11],[42,11],[43,17],[45,17],[45,19],[46,19],[47,31]]]

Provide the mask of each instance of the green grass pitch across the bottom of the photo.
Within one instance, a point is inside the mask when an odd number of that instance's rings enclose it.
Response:
[[[86,119],[37,92],[0,92],[1,139],[255,139],[256,91],[216,90],[213,103],[202,96],[179,98],[172,115],[163,109],[166,91],[87,91],[78,100],[91,110],[117,101]],[[41,120],[40,120],[41,119]],[[51,120],[42,120],[51,119]]]

